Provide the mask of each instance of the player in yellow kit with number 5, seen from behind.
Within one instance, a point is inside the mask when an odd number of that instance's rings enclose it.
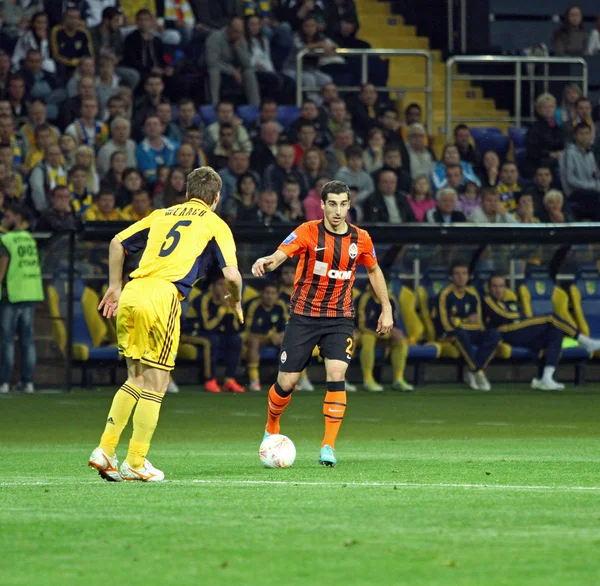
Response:
[[[153,212],[110,243],[110,283],[98,309],[107,318],[117,316],[127,381],[113,399],[100,445],[88,461],[106,480],[164,480],[164,473],[146,454],[175,367],[181,300],[215,260],[223,270],[229,302],[243,323],[235,242],[227,224],[214,213],[221,187],[221,178],[210,167],[192,171],[185,203]],[[144,252],[139,266],[121,291],[125,254],[140,250]],[[115,449],[132,412],[133,435],[119,468]]]

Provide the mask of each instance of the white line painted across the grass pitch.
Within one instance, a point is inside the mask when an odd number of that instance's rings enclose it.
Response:
[[[37,480],[23,482],[0,482],[0,488],[21,487],[21,486],[73,486],[73,485],[93,485],[106,486],[106,482],[98,479],[83,481],[57,481]],[[317,486],[317,487],[337,487],[337,488],[450,488],[450,489],[475,489],[475,490],[515,490],[515,491],[556,491],[556,492],[600,492],[600,486],[566,486],[566,485],[519,485],[519,484],[474,484],[459,482],[325,482],[325,481],[306,481],[306,480],[235,480],[229,478],[222,479],[190,479],[190,480],[166,480],[164,485],[213,485],[213,486]],[[120,486],[128,486],[129,483],[122,483]],[[112,485],[117,486],[117,485]]]

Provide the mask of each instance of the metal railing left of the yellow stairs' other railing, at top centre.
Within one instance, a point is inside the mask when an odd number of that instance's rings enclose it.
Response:
[[[318,92],[320,88],[309,87],[302,84],[302,71],[304,68],[304,57],[307,55],[322,55],[323,49],[303,49],[296,56],[296,104],[302,105],[304,92]],[[336,49],[336,55],[340,57],[360,56],[361,58],[361,83],[369,80],[369,57],[422,57],[426,62],[425,85],[424,86],[385,86],[376,87],[377,91],[402,94],[403,92],[422,92],[425,94],[426,112],[424,118],[427,120],[427,132],[432,133],[433,124],[433,55],[430,51],[421,49]],[[338,90],[343,92],[359,92],[360,86],[339,86]]]

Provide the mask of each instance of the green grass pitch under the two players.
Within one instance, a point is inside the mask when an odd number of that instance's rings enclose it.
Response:
[[[298,394],[288,470],[258,460],[264,392],[185,391],[149,455],[160,485],[87,467],[112,391],[0,400],[2,586],[600,583],[593,385],[349,394],[333,469],[323,393]]]

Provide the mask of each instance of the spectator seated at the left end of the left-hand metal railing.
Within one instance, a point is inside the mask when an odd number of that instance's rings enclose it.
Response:
[[[334,81],[333,76],[345,73],[344,60],[336,55],[337,45],[319,32],[317,21],[309,15],[302,21],[300,30],[292,37],[292,52],[284,64],[283,73],[302,84],[302,87],[313,88],[308,95],[320,103],[318,91],[327,83]],[[302,79],[296,79],[296,58],[303,49],[323,49],[322,55],[311,55],[303,59]],[[316,88],[316,89],[315,89]]]

